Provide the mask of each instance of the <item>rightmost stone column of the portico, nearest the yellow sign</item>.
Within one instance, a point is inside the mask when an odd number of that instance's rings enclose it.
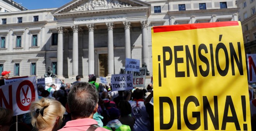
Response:
[[[149,66],[149,55],[147,45],[147,21],[141,21],[142,28],[142,64],[146,63]]]

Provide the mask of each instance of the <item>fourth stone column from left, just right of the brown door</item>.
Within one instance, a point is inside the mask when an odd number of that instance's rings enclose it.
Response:
[[[113,44],[114,24],[113,24],[113,22],[111,22],[111,23],[106,23],[106,25],[107,25],[107,30],[108,30],[108,45],[107,45],[108,75],[107,76],[111,76],[111,74],[114,74],[114,44]]]

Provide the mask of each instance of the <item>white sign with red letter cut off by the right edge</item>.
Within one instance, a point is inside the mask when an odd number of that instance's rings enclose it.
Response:
[[[249,82],[256,82],[256,54],[247,54],[247,66],[248,66],[248,76]]]

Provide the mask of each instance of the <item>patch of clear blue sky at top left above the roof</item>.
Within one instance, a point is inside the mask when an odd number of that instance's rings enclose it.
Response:
[[[58,8],[72,0],[14,0],[29,10],[42,8]]]

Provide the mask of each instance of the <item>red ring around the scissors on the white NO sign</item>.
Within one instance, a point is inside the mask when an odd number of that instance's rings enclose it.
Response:
[[[21,103],[21,96],[20,96],[20,93],[21,93],[22,87],[25,86],[25,85],[28,85],[29,88],[30,88],[30,91],[31,91],[31,101],[30,101],[30,103],[29,103],[28,106],[24,106],[24,105]],[[21,109],[22,111],[28,111],[31,102],[32,102],[32,101],[35,101],[35,98],[36,98],[36,92],[35,92],[35,87],[34,87],[33,83],[32,83],[31,81],[28,81],[28,80],[22,81],[22,82],[19,84],[18,89],[17,89],[17,92],[16,92],[16,102],[17,102],[17,105],[18,105],[19,109]]]

